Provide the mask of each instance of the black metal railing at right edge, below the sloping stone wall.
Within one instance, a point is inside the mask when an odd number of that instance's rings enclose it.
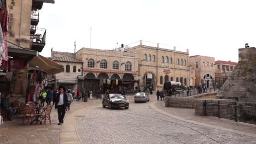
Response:
[[[205,100],[205,115],[256,124],[256,103]]]

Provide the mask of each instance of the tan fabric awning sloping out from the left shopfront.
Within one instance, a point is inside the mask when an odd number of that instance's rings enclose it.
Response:
[[[35,56],[28,64],[32,67],[37,67],[39,70],[47,71],[49,75],[62,73],[64,71],[63,65],[57,64],[41,55]]]

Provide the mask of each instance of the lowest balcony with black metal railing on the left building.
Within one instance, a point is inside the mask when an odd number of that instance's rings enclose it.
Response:
[[[31,50],[42,52],[45,46],[45,38],[46,38],[46,29],[37,28],[36,34],[30,34],[30,39],[33,40]]]

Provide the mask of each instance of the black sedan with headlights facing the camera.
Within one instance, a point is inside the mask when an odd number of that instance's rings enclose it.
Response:
[[[102,100],[102,107],[106,106],[109,109],[113,107],[125,107],[125,109],[129,109],[129,100],[126,100],[121,94],[107,94]]]

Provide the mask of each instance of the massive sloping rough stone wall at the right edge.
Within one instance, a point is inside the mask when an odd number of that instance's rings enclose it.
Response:
[[[256,103],[256,48],[239,49],[239,60],[217,97]]]

